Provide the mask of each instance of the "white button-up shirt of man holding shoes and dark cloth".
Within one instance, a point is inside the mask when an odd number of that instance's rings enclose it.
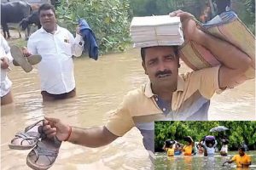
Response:
[[[42,60],[38,65],[41,90],[49,94],[64,94],[75,88],[72,56],[80,56],[83,51],[80,35],[76,38],[67,29],[57,26],[54,34],[42,27],[29,37],[28,51],[40,54]]]

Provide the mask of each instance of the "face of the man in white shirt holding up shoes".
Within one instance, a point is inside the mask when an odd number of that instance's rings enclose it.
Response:
[[[39,14],[40,23],[45,31],[55,31],[56,18],[55,13],[51,10],[41,10]]]

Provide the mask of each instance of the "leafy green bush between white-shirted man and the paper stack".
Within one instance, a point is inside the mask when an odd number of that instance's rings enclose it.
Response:
[[[84,18],[95,32],[102,54],[124,51],[131,44],[128,0],[73,0],[62,1],[57,8],[61,26],[75,31],[78,18]]]

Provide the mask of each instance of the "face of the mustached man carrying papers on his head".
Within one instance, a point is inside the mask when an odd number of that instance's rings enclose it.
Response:
[[[177,88],[178,60],[172,47],[146,48],[143,68],[152,86]]]

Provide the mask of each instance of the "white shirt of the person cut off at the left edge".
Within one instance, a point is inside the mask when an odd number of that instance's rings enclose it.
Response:
[[[10,54],[8,42],[6,42],[2,34],[0,34],[0,58],[2,59],[3,57],[7,57],[9,59],[9,63],[11,63],[13,60]],[[12,86],[12,82],[7,77],[7,71],[7,69],[1,68],[1,98],[9,93],[10,88]]]

